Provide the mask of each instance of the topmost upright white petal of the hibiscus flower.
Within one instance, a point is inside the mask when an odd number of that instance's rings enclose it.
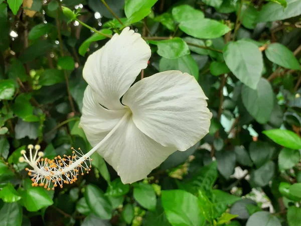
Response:
[[[83,77],[100,104],[111,110],[122,109],[120,97],[146,68],[149,57],[150,48],[140,34],[124,28],[88,57]]]

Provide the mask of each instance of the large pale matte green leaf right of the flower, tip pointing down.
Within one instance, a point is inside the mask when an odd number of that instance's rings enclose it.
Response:
[[[256,89],[263,69],[262,53],[248,41],[229,42],[223,49],[224,59],[233,74],[245,85]]]

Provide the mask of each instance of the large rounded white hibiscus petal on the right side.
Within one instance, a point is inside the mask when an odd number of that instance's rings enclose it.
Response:
[[[145,135],[165,147],[185,151],[209,132],[212,114],[206,99],[193,76],[166,71],[136,82],[122,102]]]

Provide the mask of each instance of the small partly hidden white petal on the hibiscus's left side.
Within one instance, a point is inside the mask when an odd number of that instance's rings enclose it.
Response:
[[[83,99],[80,126],[92,146],[98,144],[120,121],[126,110],[108,110],[102,107],[88,85]]]

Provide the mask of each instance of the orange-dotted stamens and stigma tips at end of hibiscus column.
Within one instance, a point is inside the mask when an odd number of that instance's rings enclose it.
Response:
[[[84,155],[80,148],[78,151],[71,148],[72,156],[57,156],[54,159],[42,158],[44,153],[39,151],[40,145],[29,145],[28,149],[29,158],[26,156],[26,151],[22,150],[23,157],[20,157],[19,161],[27,162],[33,168],[26,168],[28,175],[32,176],[32,186],[43,186],[47,190],[50,190],[51,186],[52,190],[57,186],[62,188],[63,184],[74,183],[79,174],[89,173],[92,167],[92,159]],[[33,150],[35,150],[34,156]]]

